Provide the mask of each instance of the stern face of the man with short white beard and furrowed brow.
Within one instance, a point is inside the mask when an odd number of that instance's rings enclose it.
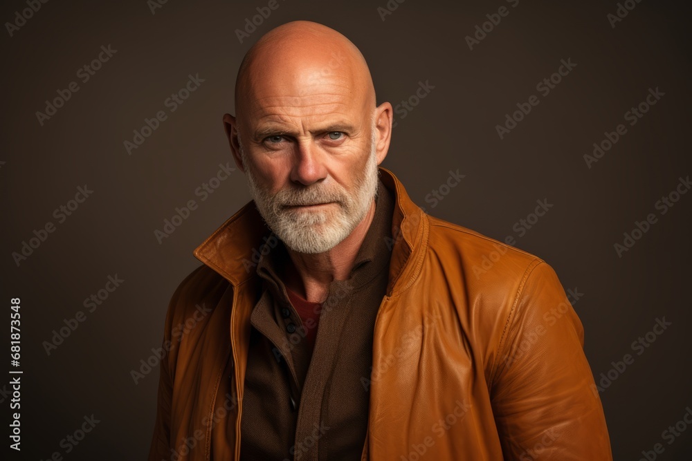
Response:
[[[376,193],[372,108],[324,68],[253,87],[239,150],[257,209],[292,250],[330,250]]]

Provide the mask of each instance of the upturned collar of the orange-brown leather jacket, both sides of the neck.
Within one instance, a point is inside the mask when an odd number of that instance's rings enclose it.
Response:
[[[387,292],[391,295],[400,288],[408,287],[410,279],[417,275],[415,261],[427,245],[428,221],[394,173],[383,167],[378,169],[380,179],[394,196],[392,239],[388,242],[392,246],[392,259]],[[193,254],[238,286],[257,276],[257,262],[266,248],[264,245],[271,247],[273,243],[270,235],[271,230],[251,200],[228,218]],[[410,257],[415,251],[416,257]]]

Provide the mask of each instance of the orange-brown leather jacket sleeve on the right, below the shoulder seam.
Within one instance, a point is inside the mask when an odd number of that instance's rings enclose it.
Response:
[[[611,461],[579,317],[552,267],[534,261],[504,326],[491,381],[505,460]]]

